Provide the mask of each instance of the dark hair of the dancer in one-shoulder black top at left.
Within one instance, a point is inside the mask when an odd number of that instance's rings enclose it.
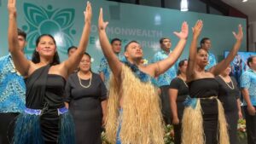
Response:
[[[52,36],[49,35],[49,34],[42,34],[41,36],[39,36],[39,37],[37,38],[36,46],[38,46],[38,43],[40,42],[41,38],[42,38],[42,37],[45,37],[45,36],[46,36],[46,37],[51,37],[52,40],[54,41],[55,45],[56,45],[55,37],[52,37]],[[33,52],[33,54],[32,54],[32,62],[35,63],[35,64],[37,64],[37,63],[40,62],[40,55],[39,55],[39,53],[38,53],[38,51],[37,51],[36,49],[34,50],[34,52]],[[60,64],[60,63],[61,63],[61,62],[60,62],[60,57],[59,57],[59,55],[58,55],[58,52],[56,51],[56,52],[55,52],[55,55],[54,55],[54,58],[53,58],[52,62],[50,63],[50,65],[51,65],[51,66],[54,66],[54,65],[58,65],[58,64]]]

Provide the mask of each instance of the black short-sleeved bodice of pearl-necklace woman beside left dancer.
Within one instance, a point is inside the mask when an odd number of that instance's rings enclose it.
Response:
[[[87,86],[90,84],[90,79],[81,79],[81,83],[84,86]],[[104,101],[107,99],[107,89],[102,81],[102,78],[98,74],[93,72],[90,87],[82,87],[79,83],[78,73],[75,72],[67,79],[66,96],[67,102],[77,101],[83,98],[94,98],[99,101]]]

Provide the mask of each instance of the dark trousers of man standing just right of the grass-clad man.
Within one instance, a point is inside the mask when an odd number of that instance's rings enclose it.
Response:
[[[172,112],[169,99],[169,85],[160,86],[162,114],[166,124],[172,124]]]

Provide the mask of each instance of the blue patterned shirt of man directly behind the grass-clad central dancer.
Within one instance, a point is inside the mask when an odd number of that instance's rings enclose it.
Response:
[[[125,56],[124,55],[117,55],[117,57],[119,58],[119,60],[125,60]],[[109,78],[110,78],[110,67],[108,66],[108,60],[106,59],[106,57],[103,57],[100,63],[100,67],[98,72],[103,72],[104,74],[104,84],[106,85],[107,89],[108,89],[108,82],[109,82]]]

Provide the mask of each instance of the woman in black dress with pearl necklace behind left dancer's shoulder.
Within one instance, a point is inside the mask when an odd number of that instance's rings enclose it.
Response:
[[[106,118],[107,89],[100,76],[90,71],[90,55],[84,53],[75,72],[67,80],[67,103],[73,114],[77,144],[101,144]]]

